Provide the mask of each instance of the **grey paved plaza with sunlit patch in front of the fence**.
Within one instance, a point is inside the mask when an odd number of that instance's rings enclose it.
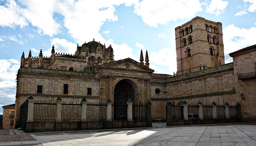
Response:
[[[256,146],[256,125],[200,125],[26,134],[0,130],[0,146]]]

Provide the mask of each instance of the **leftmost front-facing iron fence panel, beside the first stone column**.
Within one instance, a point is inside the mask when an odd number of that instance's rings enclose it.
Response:
[[[55,122],[56,102],[35,101],[33,120],[34,122]]]

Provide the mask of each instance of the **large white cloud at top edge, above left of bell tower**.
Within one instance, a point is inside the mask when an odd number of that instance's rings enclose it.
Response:
[[[143,0],[134,12],[149,26],[167,24],[171,20],[191,18],[202,11],[199,0]]]

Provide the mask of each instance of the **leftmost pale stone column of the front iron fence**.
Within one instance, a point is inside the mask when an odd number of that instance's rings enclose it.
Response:
[[[33,132],[33,113],[34,113],[34,98],[32,96],[27,98],[27,120],[26,120],[26,132]]]

